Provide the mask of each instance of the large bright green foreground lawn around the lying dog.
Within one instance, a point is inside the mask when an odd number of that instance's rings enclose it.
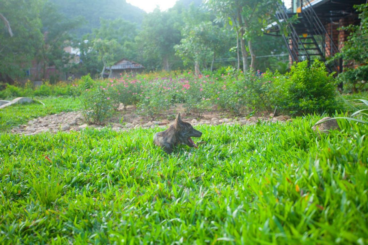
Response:
[[[156,129],[0,136],[0,243],[367,244],[368,125],[319,117],[196,127],[165,155]]]

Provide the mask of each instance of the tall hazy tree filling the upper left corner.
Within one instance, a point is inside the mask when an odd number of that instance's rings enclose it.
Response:
[[[15,7],[27,6],[27,7]],[[11,23],[13,36],[7,22],[0,22],[0,81],[13,82],[12,78],[25,76],[35,57],[36,48],[42,42],[39,18],[40,0],[0,1],[0,10],[8,23]]]

